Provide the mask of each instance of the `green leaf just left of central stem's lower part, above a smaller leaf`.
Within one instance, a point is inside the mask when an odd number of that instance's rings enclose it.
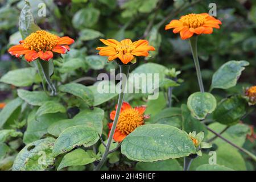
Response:
[[[71,151],[76,146],[81,146],[82,144],[93,145],[97,142],[96,139],[99,139],[98,132],[92,127],[69,127],[60,134],[59,138],[56,139],[56,142],[53,146],[53,155],[57,156],[59,154]]]

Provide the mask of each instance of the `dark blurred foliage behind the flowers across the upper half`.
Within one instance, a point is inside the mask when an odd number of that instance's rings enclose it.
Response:
[[[96,47],[102,46],[99,38],[122,40],[147,39],[156,48],[146,59],[140,57],[131,69],[143,63],[158,63],[167,68],[181,71],[184,80],[174,89],[174,106],[187,102],[188,96],[199,90],[188,41],[179,35],[165,31],[164,26],[171,19],[179,19],[188,13],[208,13],[209,3],[216,3],[217,18],[221,20],[220,30],[199,38],[199,57],[205,88],[209,88],[213,73],[229,60],[247,60],[250,66],[241,75],[238,84],[227,90],[214,90],[217,100],[232,94],[242,93],[243,88],[255,85],[256,77],[256,1],[253,0],[28,0],[36,23],[59,36],[70,36],[76,42],[71,51],[56,59],[58,68],[55,80],[71,81],[92,85],[101,72],[117,68],[114,63],[106,64],[107,58],[97,55]],[[44,3],[44,4],[42,4]],[[18,44],[21,35],[18,30],[20,10],[24,1],[0,0],[0,77],[10,70],[28,67],[24,60],[16,59],[7,49]],[[40,6],[39,6],[40,5]],[[38,12],[46,5],[46,16]],[[58,74],[55,74],[58,75]],[[0,83],[0,102],[6,102],[15,95],[12,86]],[[164,98],[161,97],[162,101]],[[157,113],[164,105],[160,100],[151,101],[147,112]],[[154,102],[154,103],[153,103]],[[133,100],[131,104],[143,104]],[[114,104],[112,104],[114,105]],[[110,106],[108,107],[108,109]],[[156,109],[157,108],[157,109]],[[255,125],[256,114],[250,113],[245,123]],[[254,140],[253,140],[254,141]],[[246,148],[254,151],[254,142],[246,140]],[[247,169],[254,169],[247,163]]]

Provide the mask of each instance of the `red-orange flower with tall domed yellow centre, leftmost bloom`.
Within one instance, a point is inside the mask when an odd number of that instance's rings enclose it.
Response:
[[[11,47],[8,52],[16,57],[25,55],[28,62],[34,61],[38,57],[44,61],[49,61],[53,57],[53,52],[66,53],[69,51],[68,45],[74,42],[68,36],[60,38],[47,31],[39,30],[21,40],[19,45]]]

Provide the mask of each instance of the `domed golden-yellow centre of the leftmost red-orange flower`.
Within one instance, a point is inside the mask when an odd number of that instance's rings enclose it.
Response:
[[[38,30],[24,40],[23,47],[35,51],[51,51],[58,42],[56,35],[44,30]]]

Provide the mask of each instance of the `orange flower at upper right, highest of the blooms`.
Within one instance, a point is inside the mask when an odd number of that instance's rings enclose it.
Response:
[[[166,25],[166,30],[174,28],[175,34],[180,32],[181,39],[191,38],[194,34],[212,34],[213,28],[220,28],[220,20],[210,16],[208,13],[188,14],[181,16],[179,20],[171,20]]]

